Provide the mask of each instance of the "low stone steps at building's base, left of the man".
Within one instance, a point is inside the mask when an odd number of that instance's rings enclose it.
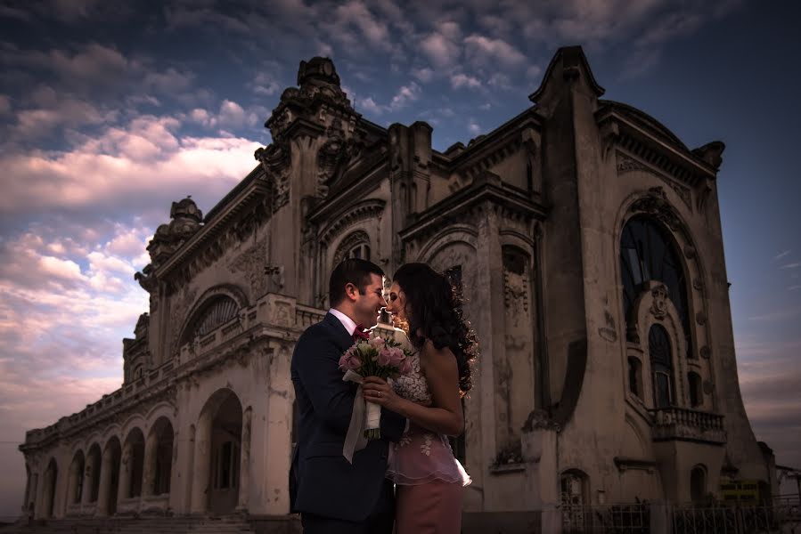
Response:
[[[242,515],[70,518],[20,522],[0,528],[0,534],[289,534],[294,522],[251,522]]]

